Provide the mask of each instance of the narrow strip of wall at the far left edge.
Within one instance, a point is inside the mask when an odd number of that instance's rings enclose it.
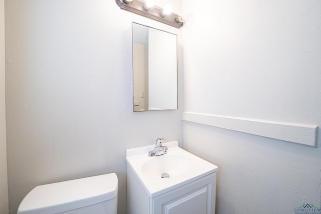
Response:
[[[0,1],[0,213],[8,213],[5,111],[5,2]]]

